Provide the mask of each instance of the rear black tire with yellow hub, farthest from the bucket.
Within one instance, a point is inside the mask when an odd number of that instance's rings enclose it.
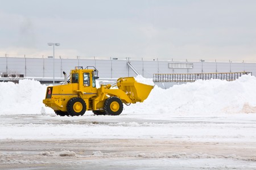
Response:
[[[73,97],[67,103],[67,111],[70,116],[82,116],[86,111],[86,104],[80,97]]]

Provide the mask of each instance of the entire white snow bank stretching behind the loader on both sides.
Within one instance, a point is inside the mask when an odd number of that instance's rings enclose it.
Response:
[[[138,82],[154,84],[142,76]],[[238,80],[197,80],[176,85],[167,90],[157,86],[143,103],[125,106],[127,114],[224,114],[256,113],[256,78],[243,75]],[[0,83],[0,114],[51,113],[42,103],[46,86],[35,80],[20,80],[18,84]]]

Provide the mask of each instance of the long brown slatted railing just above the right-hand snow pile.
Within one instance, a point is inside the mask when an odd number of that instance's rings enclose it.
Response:
[[[193,74],[153,74],[153,82],[195,82],[195,80],[220,79],[233,81],[242,75],[248,75],[251,72],[236,73],[193,73]]]

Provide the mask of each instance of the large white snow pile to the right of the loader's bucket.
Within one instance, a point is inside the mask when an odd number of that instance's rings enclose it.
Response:
[[[138,80],[139,81],[139,80]],[[197,80],[164,90],[157,86],[143,103],[126,108],[141,114],[256,113],[256,78]]]

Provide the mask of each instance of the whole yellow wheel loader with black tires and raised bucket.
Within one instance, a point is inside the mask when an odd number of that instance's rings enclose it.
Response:
[[[119,115],[123,103],[143,102],[154,88],[136,82],[133,77],[119,78],[114,84],[102,84],[96,88],[98,71],[90,67],[93,66],[75,67],[69,80],[63,72],[64,84],[47,87],[43,103],[59,116],[82,116],[85,111],[93,111],[96,115]]]

